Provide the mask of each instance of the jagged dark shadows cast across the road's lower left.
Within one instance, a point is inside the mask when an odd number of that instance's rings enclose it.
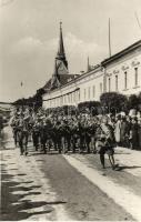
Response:
[[[14,181],[14,175],[7,173],[6,164],[1,165],[2,165],[2,171],[1,171],[2,172],[1,220],[2,221],[19,221],[19,220],[26,220],[37,214],[48,214],[54,210],[52,205],[66,203],[64,201],[50,201],[50,202],[32,201],[32,199],[30,200],[30,198],[29,200],[23,200],[24,196],[40,195],[41,192],[34,191],[34,189],[41,188],[41,185],[32,185],[33,181],[22,182],[22,184],[29,183],[29,186],[21,185],[21,183]],[[20,173],[16,175],[24,176],[26,174]],[[42,209],[39,210],[37,209],[41,206],[43,206],[44,209],[43,211]],[[29,212],[29,210],[31,210],[31,212]]]

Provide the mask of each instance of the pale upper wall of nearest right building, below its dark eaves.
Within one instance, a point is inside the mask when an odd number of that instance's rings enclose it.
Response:
[[[138,69],[138,84],[135,85],[135,70]],[[127,72],[127,89],[125,78]],[[109,92],[109,78],[111,79],[111,91],[115,90],[115,75],[118,75],[118,91],[123,94],[135,94],[141,91],[141,51],[134,51],[105,68],[107,92]]]

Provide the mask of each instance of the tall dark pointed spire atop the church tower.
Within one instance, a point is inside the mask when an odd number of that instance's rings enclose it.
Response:
[[[56,59],[62,61],[66,68],[68,69],[68,61],[66,59],[66,52],[64,52],[64,46],[63,46],[62,22],[60,22],[59,49],[58,49]]]

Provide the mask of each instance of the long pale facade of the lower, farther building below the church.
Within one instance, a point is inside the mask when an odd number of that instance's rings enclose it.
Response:
[[[78,105],[79,102],[83,101],[98,101],[100,99],[100,94],[103,92],[103,74],[104,73],[100,67],[89,73],[85,73],[84,75],[79,77],[79,79],[64,87],[44,94],[43,100],[49,101],[43,101],[43,107],[47,109],[62,105]]]

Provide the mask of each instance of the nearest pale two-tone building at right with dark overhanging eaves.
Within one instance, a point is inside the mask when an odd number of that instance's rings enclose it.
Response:
[[[104,90],[127,95],[141,92],[141,40],[101,62]]]

